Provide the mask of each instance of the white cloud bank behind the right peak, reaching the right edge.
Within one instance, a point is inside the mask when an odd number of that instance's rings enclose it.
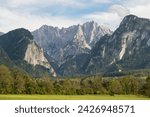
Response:
[[[100,24],[107,24],[112,30],[115,30],[126,15],[134,14],[150,19],[149,11],[150,0],[126,0],[123,5],[114,4],[108,8],[108,11],[88,14],[84,18],[95,20]]]

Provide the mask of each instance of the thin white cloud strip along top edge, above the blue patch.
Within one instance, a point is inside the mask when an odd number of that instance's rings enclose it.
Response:
[[[25,7],[25,6],[65,6],[77,9],[85,8],[91,5],[108,4],[112,0],[3,0],[9,7]]]

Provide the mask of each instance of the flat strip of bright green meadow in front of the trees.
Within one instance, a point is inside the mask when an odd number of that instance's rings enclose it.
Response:
[[[0,100],[150,100],[136,95],[0,95]]]

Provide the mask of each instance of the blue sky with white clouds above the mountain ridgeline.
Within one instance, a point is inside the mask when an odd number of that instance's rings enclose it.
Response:
[[[150,18],[150,0],[0,0],[0,31],[69,27],[94,20],[115,30],[124,16]]]

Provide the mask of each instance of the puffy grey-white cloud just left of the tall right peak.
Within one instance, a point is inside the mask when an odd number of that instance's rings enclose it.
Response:
[[[99,24],[107,25],[112,30],[115,30],[122,19],[130,14],[129,9],[121,5],[112,5],[106,12],[95,12],[85,15],[83,18],[87,20],[95,20]]]

